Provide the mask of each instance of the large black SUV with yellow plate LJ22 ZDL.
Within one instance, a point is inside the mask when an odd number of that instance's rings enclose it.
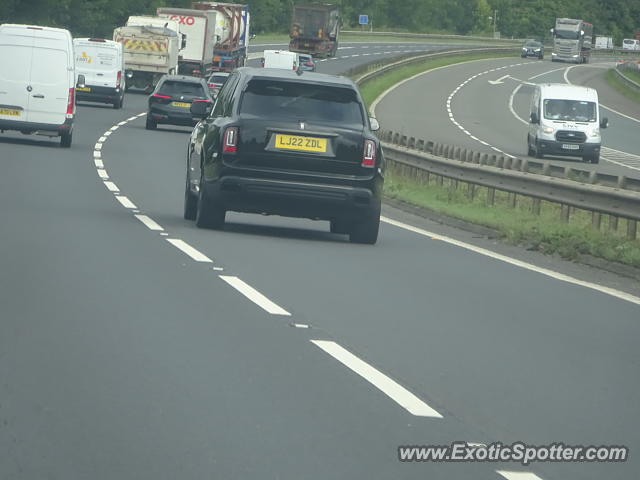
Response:
[[[189,142],[184,217],[221,228],[227,211],[329,220],[356,243],[378,238],[384,159],[355,84],[239,68]]]

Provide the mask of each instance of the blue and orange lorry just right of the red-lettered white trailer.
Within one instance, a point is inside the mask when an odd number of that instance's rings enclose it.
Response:
[[[244,66],[249,47],[249,6],[219,2],[193,2],[191,6],[217,14],[211,69],[230,72]]]

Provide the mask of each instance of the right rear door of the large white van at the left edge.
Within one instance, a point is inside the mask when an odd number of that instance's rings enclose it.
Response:
[[[29,121],[62,125],[74,88],[73,51],[60,37],[36,37],[31,59]],[[56,48],[63,47],[63,48]]]

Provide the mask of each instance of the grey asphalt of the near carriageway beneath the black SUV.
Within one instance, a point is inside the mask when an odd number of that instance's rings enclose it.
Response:
[[[0,136],[0,479],[638,476],[637,283],[390,207],[373,247],[281,217],[199,230],[189,130],[145,111],[82,104],[71,149]],[[398,460],[454,441],[631,456]]]

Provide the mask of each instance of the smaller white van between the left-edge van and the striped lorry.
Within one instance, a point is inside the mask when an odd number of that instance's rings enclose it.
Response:
[[[85,84],[76,89],[78,100],[111,103],[122,108],[125,91],[122,44],[104,38],[74,38],[76,73]]]

